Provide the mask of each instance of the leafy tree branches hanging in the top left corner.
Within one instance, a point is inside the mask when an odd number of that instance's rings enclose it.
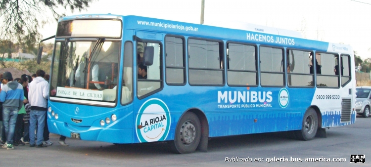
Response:
[[[39,41],[41,38],[38,31],[40,26],[53,19],[57,21],[65,15],[65,13],[57,12],[56,9],[81,11],[89,7],[92,1],[95,0],[1,0],[0,39],[25,42],[31,47],[32,42]],[[47,17],[48,13],[51,13],[51,18]]]

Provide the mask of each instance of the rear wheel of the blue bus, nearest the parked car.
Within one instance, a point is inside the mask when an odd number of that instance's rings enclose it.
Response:
[[[312,140],[317,133],[318,117],[313,108],[309,108],[303,117],[301,130],[296,131],[296,137],[299,140]]]

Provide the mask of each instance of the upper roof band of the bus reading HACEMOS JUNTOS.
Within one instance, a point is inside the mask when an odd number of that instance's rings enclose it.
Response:
[[[125,22],[124,29],[193,36],[199,38],[213,38],[227,41],[233,40],[236,42],[250,42],[285,47],[299,47],[303,49],[318,51],[353,54],[353,48],[350,45],[307,40],[303,39],[300,33],[295,31],[259,26],[248,23],[233,23],[231,25],[222,25],[221,23],[207,23],[210,25],[201,25],[134,15],[122,16],[110,13],[66,16],[60,18],[59,22],[74,19],[103,18],[123,20]],[[146,39],[146,37],[139,38]],[[153,38],[153,34],[148,35],[148,39],[151,38]],[[159,39],[153,38],[153,40]]]

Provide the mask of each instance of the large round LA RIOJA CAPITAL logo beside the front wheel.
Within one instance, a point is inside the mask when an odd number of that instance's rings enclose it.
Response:
[[[160,99],[151,98],[141,105],[136,125],[137,136],[140,142],[163,141],[169,134],[170,111]]]

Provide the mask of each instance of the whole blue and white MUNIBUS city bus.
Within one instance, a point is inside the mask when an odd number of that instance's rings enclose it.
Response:
[[[55,38],[49,131],[110,143],[168,141],[185,154],[207,151],[209,137],[291,131],[311,140],[326,127],[354,124],[352,47],[291,34],[62,17],[48,38]]]

